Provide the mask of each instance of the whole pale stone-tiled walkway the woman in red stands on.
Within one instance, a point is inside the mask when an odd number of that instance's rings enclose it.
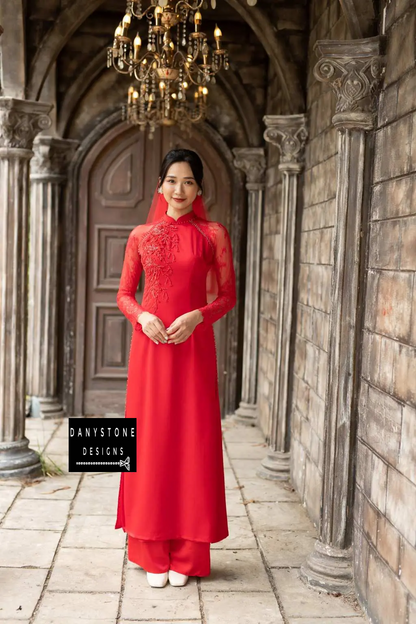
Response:
[[[67,420],[27,419],[30,445],[67,470]],[[0,480],[0,623],[365,624],[353,600],[308,589],[299,566],[316,531],[288,484],[255,476],[267,447],[225,420],[230,536],[211,575],[152,588],[114,530],[119,473]]]

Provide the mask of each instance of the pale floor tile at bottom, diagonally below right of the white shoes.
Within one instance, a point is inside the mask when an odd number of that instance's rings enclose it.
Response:
[[[272,592],[203,594],[207,624],[283,624]]]

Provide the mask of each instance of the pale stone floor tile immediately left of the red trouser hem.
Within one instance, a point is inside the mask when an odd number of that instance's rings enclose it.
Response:
[[[124,551],[110,548],[61,548],[48,589],[68,592],[118,592]]]

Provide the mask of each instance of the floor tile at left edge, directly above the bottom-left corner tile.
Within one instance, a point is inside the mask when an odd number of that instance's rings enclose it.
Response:
[[[60,537],[60,531],[2,528],[0,529],[0,566],[49,568]]]

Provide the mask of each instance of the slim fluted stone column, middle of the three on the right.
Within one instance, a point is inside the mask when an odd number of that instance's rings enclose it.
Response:
[[[271,417],[270,446],[257,475],[287,479],[290,472],[289,359],[293,327],[293,281],[299,175],[308,133],[305,115],[266,115],[264,138],[280,149],[283,175],[277,297],[276,372]]]

